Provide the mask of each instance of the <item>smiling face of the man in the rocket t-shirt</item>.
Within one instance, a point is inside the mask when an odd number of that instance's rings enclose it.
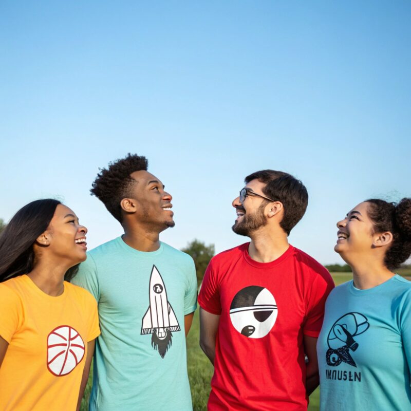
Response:
[[[163,183],[145,170],[136,171],[130,177],[137,181],[133,190],[137,222],[155,232],[174,227],[173,197],[164,191]]]

